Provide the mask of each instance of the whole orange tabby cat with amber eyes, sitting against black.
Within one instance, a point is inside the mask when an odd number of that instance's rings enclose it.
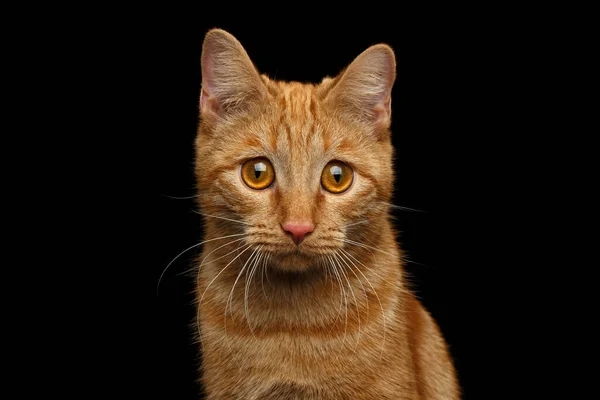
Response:
[[[260,75],[231,34],[201,57],[197,278],[208,399],[458,399],[389,218],[393,50],[320,84]]]

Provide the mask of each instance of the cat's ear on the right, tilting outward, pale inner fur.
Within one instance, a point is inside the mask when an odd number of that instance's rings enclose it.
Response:
[[[351,120],[388,128],[395,79],[394,51],[385,44],[371,46],[336,79],[325,101]]]

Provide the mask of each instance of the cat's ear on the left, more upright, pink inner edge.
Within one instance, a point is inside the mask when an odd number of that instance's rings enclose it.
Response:
[[[200,112],[218,116],[243,111],[266,93],[246,50],[231,34],[212,29],[202,45]]]

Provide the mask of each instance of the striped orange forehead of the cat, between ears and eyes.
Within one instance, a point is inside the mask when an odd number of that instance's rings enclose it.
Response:
[[[318,85],[270,81],[268,88],[269,100],[260,111],[225,128],[235,132],[237,157],[266,155],[288,164],[331,158],[353,162],[373,144],[359,127],[335,117]]]

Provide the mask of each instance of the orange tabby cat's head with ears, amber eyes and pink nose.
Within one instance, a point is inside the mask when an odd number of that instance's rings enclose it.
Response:
[[[392,49],[372,46],[316,85],[260,75],[223,30],[207,33],[201,61],[196,177],[213,216],[207,239],[243,234],[295,271],[376,239],[394,179]]]

